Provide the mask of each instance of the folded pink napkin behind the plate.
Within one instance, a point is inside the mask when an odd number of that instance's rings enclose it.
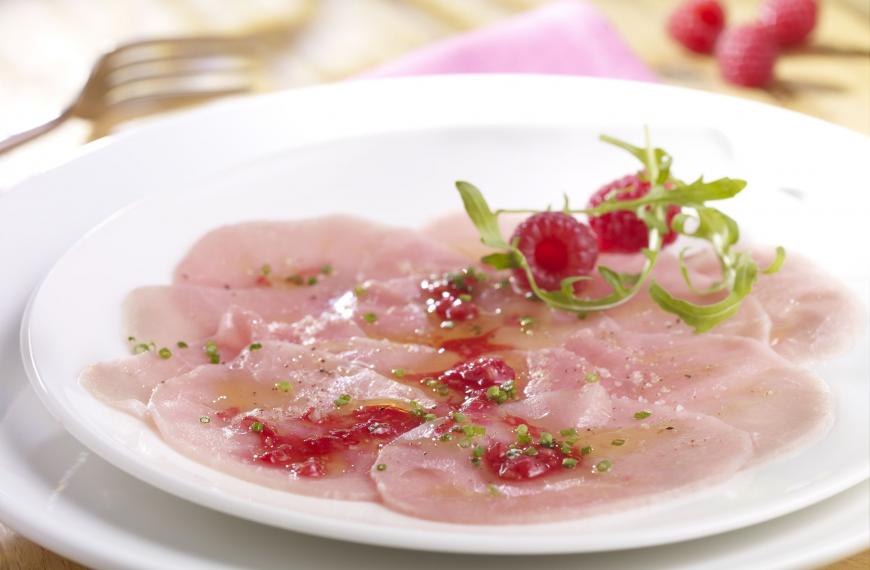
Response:
[[[362,77],[550,73],[655,81],[604,16],[562,1],[422,48]]]

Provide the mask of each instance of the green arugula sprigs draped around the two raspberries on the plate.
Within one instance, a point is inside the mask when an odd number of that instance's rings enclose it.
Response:
[[[646,288],[650,298],[664,311],[677,315],[683,322],[695,329],[695,332],[705,332],[724,322],[740,308],[743,299],[752,291],[752,286],[758,279],[759,269],[749,253],[736,252],[733,247],[740,236],[737,222],[721,211],[707,205],[708,202],[727,200],[740,193],[746,186],[743,180],[720,178],[710,182],[702,178],[685,183],[671,175],[671,156],[660,148],[653,148],[649,143],[649,132],[646,133],[645,147],[636,147],[629,143],[601,136],[601,140],[617,146],[636,157],[644,165],[641,176],[650,182],[649,192],[635,200],[621,201],[618,196],[610,196],[594,208],[571,209],[568,199],[565,199],[563,211],[566,214],[601,215],[609,212],[634,212],[647,226],[648,247],[641,253],[644,265],[639,273],[620,273],[604,265],[598,266],[598,273],[610,287],[610,293],[597,299],[577,296],[574,283],[590,279],[589,276],[577,275],[563,279],[556,291],[541,289],[535,281],[534,274],[525,256],[515,243],[508,243],[501,235],[498,216],[507,213],[538,213],[538,210],[496,210],[493,211],[478,190],[468,182],[457,182],[465,211],[480,234],[480,241],[493,249],[495,253],[486,255],[482,261],[496,269],[520,269],[528,278],[532,295],[544,301],[552,308],[577,313],[585,316],[589,312],[605,311],[628,302],[641,290]],[[676,206],[680,213],[668,224],[668,209]],[[689,223],[692,222],[692,223]],[[650,280],[659,253],[662,250],[662,238],[673,229],[675,232],[703,240],[708,243],[719,261],[721,276],[719,280],[700,293],[725,292],[721,300],[710,304],[696,304],[685,299],[674,297],[655,279]],[[780,269],[785,259],[785,250],[778,247],[776,259],[761,273],[774,273]],[[684,280],[694,292],[685,265],[684,255],[680,254],[680,268]],[[648,287],[647,281],[650,280]],[[587,376],[587,380],[589,377]],[[594,381],[594,380],[591,380]]]

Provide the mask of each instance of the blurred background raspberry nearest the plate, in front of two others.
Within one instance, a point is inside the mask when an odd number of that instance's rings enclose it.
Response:
[[[716,44],[716,59],[722,77],[745,87],[770,83],[778,55],[773,32],[761,24],[726,30]]]

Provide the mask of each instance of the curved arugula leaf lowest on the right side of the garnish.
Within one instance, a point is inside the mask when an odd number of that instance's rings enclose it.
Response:
[[[699,305],[677,299],[668,293],[655,280],[650,283],[649,294],[663,310],[680,317],[695,332],[707,332],[716,325],[732,317],[743,299],[752,292],[752,285],[758,278],[758,266],[747,254],[738,254],[734,286],[727,297],[716,303]]]

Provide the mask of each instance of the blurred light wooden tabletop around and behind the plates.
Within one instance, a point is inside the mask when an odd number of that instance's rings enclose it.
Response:
[[[68,100],[105,46],[125,39],[233,31],[291,17],[313,0],[219,4],[169,0],[0,2],[0,135],[30,126]],[[274,87],[338,80],[395,55],[510,16],[546,0],[319,0],[285,53],[270,62]],[[725,85],[711,58],[687,54],[664,32],[676,0],[593,0],[665,83],[749,97],[870,134],[870,0],[821,0],[812,44],[785,54],[765,90]],[[728,0],[731,21],[749,21],[755,0]],[[214,6],[220,6],[218,12]],[[208,9],[211,7],[212,9]],[[46,42],[51,37],[53,41]],[[353,50],[347,46],[352,44]],[[60,132],[0,159],[4,185],[69,156],[88,126]],[[82,568],[0,522],[0,570]],[[827,567],[870,569],[870,551]]]

